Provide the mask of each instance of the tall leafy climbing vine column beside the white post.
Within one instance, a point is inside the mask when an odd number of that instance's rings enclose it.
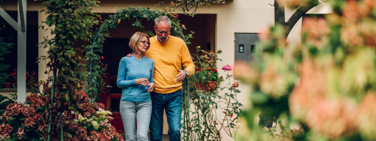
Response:
[[[38,0],[35,0],[38,1]],[[77,93],[82,89],[82,73],[81,68],[84,61],[77,52],[78,48],[74,48],[74,42],[77,39],[89,41],[92,37],[91,28],[94,24],[98,24],[97,15],[91,12],[93,7],[97,7],[98,1],[95,0],[40,0],[43,1],[44,9],[40,12],[47,14],[45,24],[47,24],[52,35],[52,39],[47,39],[39,44],[44,48],[49,48],[48,55],[42,56],[41,59],[47,60],[47,67],[51,71],[59,72],[56,76],[55,89],[58,92],[59,105],[53,107],[52,115],[62,115],[65,111],[77,111]],[[40,26],[44,29],[44,26]],[[48,72],[47,72],[48,73]],[[52,76],[45,82],[44,91],[48,91],[46,87],[52,81]],[[75,115],[73,112],[67,112],[65,121],[73,120]],[[57,125],[64,122],[62,116],[52,119],[51,136],[57,138],[59,135],[59,127]]]

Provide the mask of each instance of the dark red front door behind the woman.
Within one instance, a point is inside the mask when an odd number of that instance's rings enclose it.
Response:
[[[107,78],[105,80],[106,91],[102,102],[112,112],[114,120],[111,121],[111,124],[115,126],[118,132],[124,132],[124,126],[119,109],[122,89],[117,87],[116,80],[120,59],[132,52],[128,43],[128,38],[108,38],[103,44]]]

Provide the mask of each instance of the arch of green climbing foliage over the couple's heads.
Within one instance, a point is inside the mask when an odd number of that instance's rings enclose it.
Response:
[[[115,14],[109,15],[108,19],[100,22],[101,26],[97,29],[96,36],[93,36],[90,40],[91,44],[85,46],[85,49],[83,50],[86,60],[89,61],[89,64],[86,65],[87,72],[83,73],[83,76],[85,76],[85,91],[93,102],[99,100],[97,94],[100,94],[103,91],[105,83],[103,78],[106,76],[106,65],[103,64],[100,54],[103,52],[103,43],[106,38],[110,37],[109,30],[116,28],[117,24],[122,20],[135,20],[132,26],[139,27],[144,33],[154,36],[152,31],[144,29],[141,22],[143,20],[153,21],[156,17],[162,15],[166,15],[171,19],[172,30],[170,34],[182,38],[187,45],[191,44],[188,39],[192,38],[193,32],[184,35],[183,29],[185,29],[185,27],[183,27],[175,14],[170,14],[169,12],[150,11],[149,8],[134,8],[133,6],[130,6],[129,8],[121,8]],[[90,63],[92,63],[91,66]]]

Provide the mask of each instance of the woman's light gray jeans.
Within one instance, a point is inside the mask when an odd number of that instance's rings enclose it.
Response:
[[[149,129],[151,114],[151,100],[147,102],[127,102],[120,100],[120,115],[121,120],[123,120],[126,141],[149,141],[147,131]]]

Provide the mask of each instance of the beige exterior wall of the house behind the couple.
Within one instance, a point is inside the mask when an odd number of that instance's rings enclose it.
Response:
[[[143,0],[143,1],[132,1],[127,2],[123,0],[107,0],[102,1],[99,4],[99,8],[94,8],[93,12],[95,13],[115,13],[121,7],[129,6],[143,6],[153,9],[157,2],[154,0]],[[223,61],[218,62],[217,66],[221,69],[222,66],[229,64],[234,64],[235,58],[235,33],[258,33],[260,29],[266,28],[274,24],[274,7],[270,6],[274,3],[274,0],[227,0],[226,4],[212,4],[211,8],[205,6],[200,7],[197,10],[197,14],[216,14],[217,21],[215,22],[215,29],[208,29],[208,32],[215,32],[215,36],[211,37],[211,41],[215,41],[215,50],[222,50],[223,53],[218,56]],[[40,3],[29,2],[27,6],[28,11],[39,11],[41,8]],[[5,10],[17,10],[17,5],[3,5]],[[286,17],[288,20],[293,14],[294,10],[286,9]],[[321,4],[311,11],[309,14],[325,14],[331,13],[330,6]],[[38,23],[41,24],[41,21],[44,21],[46,16],[44,13],[40,13],[38,16]],[[27,20],[36,20],[36,19],[27,19]],[[199,26],[199,25],[197,25]],[[300,42],[301,36],[301,26],[302,20],[299,20],[298,23],[291,30],[290,35],[288,36],[288,41],[290,42]],[[39,29],[39,41],[43,40],[44,36],[49,36],[50,31],[44,31]],[[48,49],[39,49],[39,56],[46,55]],[[44,74],[46,71],[45,62],[39,64],[39,79],[45,80],[47,75]],[[220,76],[225,76],[224,71],[218,71]],[[232,74],[232,72],[230,72]],[[237,80],[231,80],[231,82],[237,82]],[[249,103],[249,88],[246,83],[240,83],[240,90],[242,93],[238,96],[238,100],[247,106]],[[222,83],[221,87],[228,86],[227,83]],[[220,91],[219,94],[224,94],[226,91]],[[222,113],[222,112],[218,112]],[[220,115],[223,116],[223,115]],[[167,134],[168,126],[167,121],[164,121],[164,133]],[[226,136],[226,133],[221,133],[223,135],[224,141],[233,140],[229,136]]]

